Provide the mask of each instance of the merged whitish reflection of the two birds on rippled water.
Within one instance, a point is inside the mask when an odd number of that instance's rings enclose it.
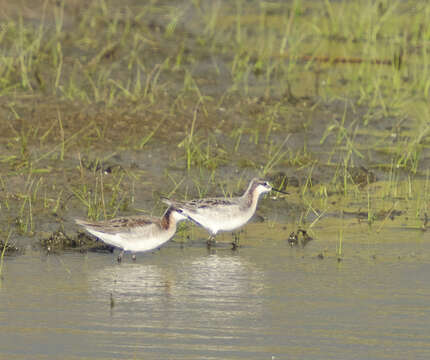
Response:
[[[156,265],[115,264],[93,272],[89,280],[95,296],[118,316],[133,313],[162,327],[212,319],[214,326],[230,328],[262,311],[264,273],[231,253],[175,257]]]

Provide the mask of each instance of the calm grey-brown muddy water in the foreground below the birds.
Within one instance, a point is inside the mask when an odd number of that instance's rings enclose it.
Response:
[[[234,252],[171,242],[118,265],[27,251],[5,263],[0,358],[428,359],[426,234],[361,230],[341,262],[323,228],[291,248],[264,223]]]

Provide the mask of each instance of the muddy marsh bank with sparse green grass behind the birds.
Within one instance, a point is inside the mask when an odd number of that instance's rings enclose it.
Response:
[[[0,221],[21,236],[276,174],[294,189],[276,211],[293,206],[281,218],[297,227],[342,211],[376,229],[396,211],[426,227],[428,4],[33,11],[8,5],[0,28]]]

